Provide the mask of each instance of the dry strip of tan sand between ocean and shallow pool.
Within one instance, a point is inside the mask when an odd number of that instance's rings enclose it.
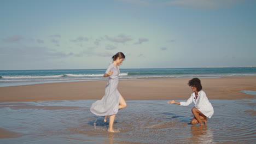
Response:
[[[119,92],[126,100],[187,99],[190,79],[119,80]],[[37,85],[0,87],[0,102],[101,99],[106,81],[43,83]],[[247,99],[256,91],[256,77],[201,78],[208,99]]]

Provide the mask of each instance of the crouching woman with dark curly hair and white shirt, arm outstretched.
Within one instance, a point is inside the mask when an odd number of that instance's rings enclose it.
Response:
[[[168,103],[188,106],[189,104],[194,102],[195,107],[193,107],[192,113],[195,117],[190,121],[190,123],[193,125],[200,123],[200,126],[202,126],[202,122],[204,122],[206,125],[208,120],[207,117],[211,118],[214,113],[212,104],[206,97],[205,92],[202,91],[201,81],[198,78],[191,79],[188,85],[191,87],[193,93],[187,101],[182,101],[179,103],[177,101],[170,100],[168,101]]]

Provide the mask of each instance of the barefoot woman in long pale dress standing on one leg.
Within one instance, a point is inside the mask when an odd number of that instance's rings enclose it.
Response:
[[[120,73],[118,65],[123,63],[125,55],[122,52],[118,52],[112,58],[113,62],[103,75],[104,77],[109,77],[105,94],[101,100],[97,100],[91,105],[90,110],[97,116],[105,116],[104,122],[107,122],[107,117],[109,116],[108,131],[118,133],[118,130],[113,129],[115,115],[118,113],[118,110],[124,109],[127,106],[124,98],[117,89],[118,75]]]

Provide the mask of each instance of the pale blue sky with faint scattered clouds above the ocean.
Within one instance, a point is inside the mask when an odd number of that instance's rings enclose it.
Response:
[[[256,65],[255,0],[0,0],[0,70]]]

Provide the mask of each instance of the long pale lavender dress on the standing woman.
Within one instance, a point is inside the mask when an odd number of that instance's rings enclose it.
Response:
[[[120,93],[117,88],[120,70],[113,63],[109,65],[105,73],[108,74],[110,70],[113,71],[113,74],[109,76],[103,98],[95,101],[90,108],[90,111],[96,116],[110,116],[118,113]]]

